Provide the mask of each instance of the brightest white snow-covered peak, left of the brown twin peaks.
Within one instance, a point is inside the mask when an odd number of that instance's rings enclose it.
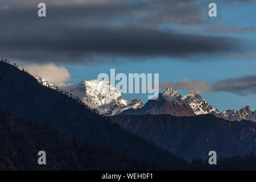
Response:
[[[140,99],[127,101],[110,82],[102,80],[82,81],[79,84],[63,87],[73,96],[80,97],[84,104],[97,109],[100,114],[115,115],[126,109],[138,109],[143,106]]]

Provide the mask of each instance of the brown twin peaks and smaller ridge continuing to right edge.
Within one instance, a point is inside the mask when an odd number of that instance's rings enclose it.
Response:
[[[191,91],[182,97],[173,88],[167,88],[165,92],[159,94],[156,100],[148,100],[140,109],[127,109],[120,114],[171,114],[176,116],[214,114],[218,118],[229,121],[250,120],[256,122],[256,110],[251,111],[249,106],[220,113],[218,109],[209,105],[199,92]]]

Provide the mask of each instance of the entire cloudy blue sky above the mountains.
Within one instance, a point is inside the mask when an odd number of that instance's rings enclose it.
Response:
[[[46,4],[46,17],[38,4]],[[209,3],[217,17],[208,15]],[[160,92],[199,90],[223,111],[256,109],[256,1],[0,1],[0,56],[55,85],[159,73]],[[147,94],[123,94],[126,100]]]

